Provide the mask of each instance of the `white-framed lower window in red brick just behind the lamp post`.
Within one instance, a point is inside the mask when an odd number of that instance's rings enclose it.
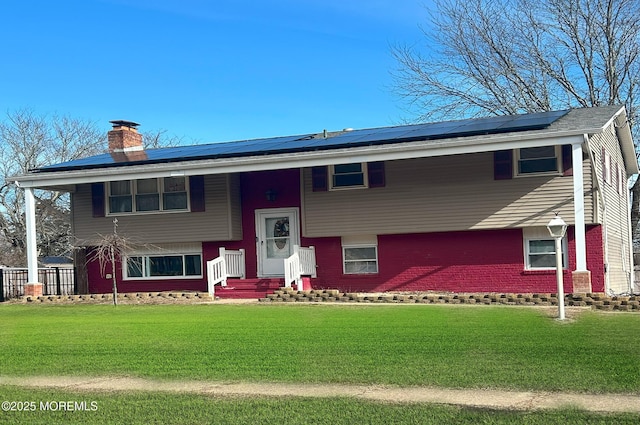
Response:
[[[555,270],[556,241],[546,227],[522,229],[524,240],[525,269]],[[567,238],[562,240],[562,266],[567,268]]]

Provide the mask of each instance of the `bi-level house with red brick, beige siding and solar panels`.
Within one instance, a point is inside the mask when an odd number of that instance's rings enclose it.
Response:
[[[152,150],[137,124],[113,124],[109,153],[13,179],[26,192],[31,267],[33,190],[71,193],[91,293],[111,290],[113,272],[85,259],[115,218],[139,241],[115,271],[121,292],[265,280],[555,292],[554,213],[569,224],[567,292],[635,290],[627,182],[638,164],[624,107]]]

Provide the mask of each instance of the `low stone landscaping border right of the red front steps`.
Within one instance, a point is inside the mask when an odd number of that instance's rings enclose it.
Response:
[[[348,302],[348,303],[402,303],[402,304],[468,304],[468,305],[522,305],[557,306],[557,294],[460,294],[460,293],[348,293],[334,289],[296,291],[282,288],[261,298],[261,302]],[[640,312],[640,296],[614,296],[603,293],[566,294],[565,306],[591,307],[597,310]]]

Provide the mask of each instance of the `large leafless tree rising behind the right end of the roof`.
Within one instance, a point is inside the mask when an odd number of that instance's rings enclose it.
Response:
[[[424,46],[392,47],[394,89],[426,121],[624,104],[639,117],[637,0],[435,0]],[[640,180],[632,188],[640,239]]]

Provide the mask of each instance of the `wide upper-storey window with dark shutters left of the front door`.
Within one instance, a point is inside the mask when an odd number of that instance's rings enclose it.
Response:
[[[188,211],[186,177],[109,182],[109,214]]]

